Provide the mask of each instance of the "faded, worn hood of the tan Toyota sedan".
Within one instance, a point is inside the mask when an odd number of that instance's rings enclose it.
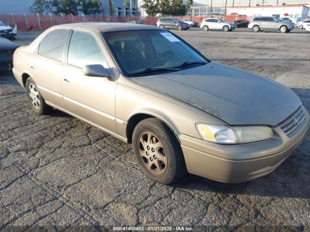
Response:
[[[290,88],[215,62],[178,72],[131,79],[231,125],[275,126],[301,105]]]

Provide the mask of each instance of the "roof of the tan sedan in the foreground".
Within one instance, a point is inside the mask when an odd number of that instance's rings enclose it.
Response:
[[[124,30],[140,30],[140,29],[158,29],[155,26],[143,24],[129,24],[129,23],[72,23],[62,24],[53,27],[54,29],[74,29],[74,28],[88,28],[95,29],[99,32],[109,31],[124,31]]]

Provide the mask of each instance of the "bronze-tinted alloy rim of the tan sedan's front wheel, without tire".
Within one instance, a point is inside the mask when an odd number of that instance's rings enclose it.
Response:
[[[164,145],[152,132],[143,132],[138,140],[140,158],[146,169],[154,175],[161,175],[167,169]]]

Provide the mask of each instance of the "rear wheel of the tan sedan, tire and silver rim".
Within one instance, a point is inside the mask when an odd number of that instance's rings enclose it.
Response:
[[[31,77],[26,81],[27,100],[31,105],[32,110],[37,115],[45,115],[52,111],[52,107],[47,105],[43,97],[38,91],[38,87]]]

